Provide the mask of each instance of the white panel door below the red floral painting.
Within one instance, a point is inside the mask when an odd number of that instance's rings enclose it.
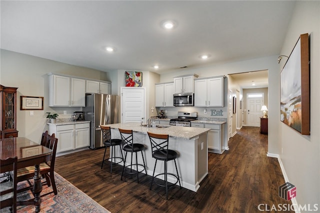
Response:
[[[121,87],[121,122],[140,122],[145,117],[145,88]],[[146,120],[146,119],[145,119]]]

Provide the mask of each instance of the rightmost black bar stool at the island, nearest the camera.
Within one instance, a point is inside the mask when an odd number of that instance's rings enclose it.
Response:
[[[177,157],[177,153],[174,150],[168,149],[168,143],[169,143],[169,135],[168,134],[156,134],[156,133],[152,133],[152,132],[147,132],[147,133],[149,135],[149,139],[150,139],[150,143],[151,143],[152,157],[155,159],[150,189],[152,187],[153,182],[158,186],[165,187],[166,199],[168,199],[168,187],[175,185],[177,182],[179,182],[179,186],[181,188],[178,169],[176,167],[176,162],[175,162],[175,158]],[[159,173],[154,176],[154,171],[155,171],[155,166],[156,166],[157,160],[164,161],[164,173]],[[174,160],[176,174],[167,172],[167,165],[166,164],[167,164],[167,161],[170,161],[170,160]],[[154,180],[154,178],[159,175],[163,175],[163,174],[164,174],[165,184],[157,183]],[[174,183],[168,183],[167,175],[174,176],[176,178],[176,181]]]

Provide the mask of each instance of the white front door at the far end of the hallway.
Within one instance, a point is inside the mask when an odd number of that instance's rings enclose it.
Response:
[[[263,104],[262,97],[248,97],[247,108],[248,108],[248,126],[260,126],[260,117],[262,111],[260,111]]]

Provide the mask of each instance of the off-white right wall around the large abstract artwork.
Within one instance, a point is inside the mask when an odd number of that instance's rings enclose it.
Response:
[[[288,181],[296,186],[296,201],[320,209],[320,1],[297,1],[280,54],[289,55],[300,34],[310,41],[310,135],[279,122],[279,144]],[[283,59],[282,59],[283,60]],[[281,60],[281,67],[284,61]],[[279,109],[278,109],[279,110]]]

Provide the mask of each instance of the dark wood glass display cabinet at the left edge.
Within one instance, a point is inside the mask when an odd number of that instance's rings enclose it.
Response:
[[[16,87],[0,85],[0,138],[17,137],[16,130]]]

